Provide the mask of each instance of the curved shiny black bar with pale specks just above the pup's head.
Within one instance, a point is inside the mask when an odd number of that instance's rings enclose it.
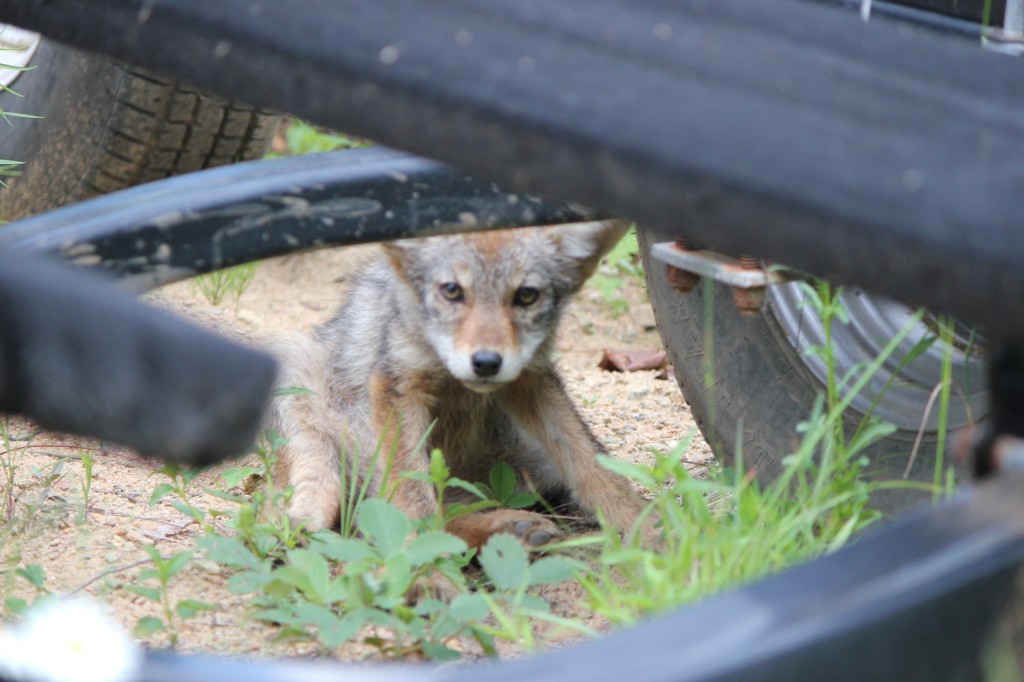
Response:
[[[328,245],[555,224],[582,208],[512,195],[384,147],[250,162],[12,223],[0,249],[52,253],[136,290]]]

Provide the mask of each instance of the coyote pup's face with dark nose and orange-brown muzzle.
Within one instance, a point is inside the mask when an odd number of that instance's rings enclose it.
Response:
[[[544,357],[567,298],[627,227],[615,221],[506,229],[402,240],[386,249],[422,304],[424,338],[452,376],[483,393]]]

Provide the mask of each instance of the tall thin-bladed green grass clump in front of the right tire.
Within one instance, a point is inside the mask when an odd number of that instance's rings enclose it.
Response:
[[[653,550],[602,527],[597,539],[566,543],[597,547],[597,558],[580,573],[597,613],[614,624],[634,623],[834,552],[880,518],[871,508],[874,491],[932,488],[865,479],[869,461],[864,452],[892,433],[893,427],[868,415],[851,434],[843,420],[853,398],[924,313],[918,313],[878,358],[839,376],[828,339],[830,326],[844,324],[846,311],[838,292],[827,285],[808,289],[810,305],[824,322],[826,339],[811,352],[825,359],[828,381],[808,419],[799,426],[799,449],[783,460],[782,473],[775,480],[762,488],[754,472],[744,472],[739,443],[735,469],[712,471],[705,480],[693,478],[680,462],[688,442],[657,455],[652,466],[603,458],[607,468],[654,492],[647,513],[659,520],[663,541]],[[911,355],[923,352],[928,343],[919,344]]]

